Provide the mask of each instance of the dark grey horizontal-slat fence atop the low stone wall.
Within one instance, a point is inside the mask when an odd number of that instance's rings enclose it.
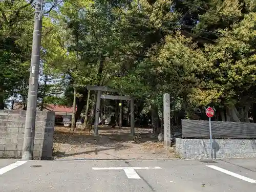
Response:
[[[255,139],[256,123],[211,121],[212,138]],[[182,120],[182,138],[209,138],[209,121]]]

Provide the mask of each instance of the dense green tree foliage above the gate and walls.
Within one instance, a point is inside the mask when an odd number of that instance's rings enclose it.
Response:
[[[33,8],[15,2],[0,3],[0,9],[24,10],[0,13],[0,91],[2,98],[26,100]],[[72,105],[76,87],[84,105],[91,84],[139,98],[142,113],[157,106],[160,118],[162,95],[170,93],[174,115],[185,111],[192,118],[211,105],[227,119],[245,121],[256,88],[254,0],[53,5],[58,9],[43,20],[40,103]]]

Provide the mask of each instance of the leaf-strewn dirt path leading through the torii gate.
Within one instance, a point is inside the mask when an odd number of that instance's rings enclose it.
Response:
[[[136,129],[131,137],[130,128],[100,127],[99,135],[83,131],[70,133],[65,127],[55,127],[54,156],[58,159],[163,159],[177,157],[166,150],[162,142],[148,129]]]

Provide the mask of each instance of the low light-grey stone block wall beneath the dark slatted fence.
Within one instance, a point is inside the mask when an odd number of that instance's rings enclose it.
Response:
[[[176,151],[185,159],[211,158],[209,139],[176,139]],[[213,139],[213,157],[256,157],[255,139]]]

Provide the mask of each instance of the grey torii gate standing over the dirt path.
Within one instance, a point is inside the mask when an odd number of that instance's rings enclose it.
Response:
[[[117,90],[103,87],[103,86],[87,86],[87,89],[90,91],[97,91],[97,99],[96,99],[96,112],[95,112],[95,120],[94,120],[94,135],[98,135],[98,126],[99,126],[99,112],[100,112],[100,100],[101,99],[113,99],[113,100],[126,100],[131,101],[131,135],[135,135],[135,121],[134,121],[134,99],[129,96],[117,96],[117,95],[101,95],[102,91],[107,92],[118,92]]]

